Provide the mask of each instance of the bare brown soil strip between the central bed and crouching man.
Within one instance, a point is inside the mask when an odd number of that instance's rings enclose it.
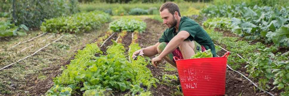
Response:
[[[145,32],[139,34],[138,43],[141,48],[145,48],[151,45],[155,45],[159,38],[161,37],[164,30],[167,28],[165,25],[161,24],[161,22],[154,20],[154,19],[145,19],[145,22],[147,23],[147,29]],[[150,57],[150,59],[154,58],[155,56]],[[171,67],[171,65],[167,65],[167,63],[163,60],[161,64],[159,64],[158,68],[153,67],[151,64],[147,65],[147,68],[150,69],[150,71],[153,74],[153,77],[159,79],[160,82],[164,82],[162,80],[162,76],[164,74],[174,75],[177,72],[177,70],[174,71],[166,71],[167,66]],[[164,83],[156,84],[157,88],[152,87],[150,91],[152,91],[152,94],[154,96],[168,96],[172,95],[177,85],[167,85]]]

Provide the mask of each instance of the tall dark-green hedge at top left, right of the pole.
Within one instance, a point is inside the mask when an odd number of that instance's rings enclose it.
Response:
[[[40,27],[44,19],[76,12],[77,0],[16,0],[15,25]]]

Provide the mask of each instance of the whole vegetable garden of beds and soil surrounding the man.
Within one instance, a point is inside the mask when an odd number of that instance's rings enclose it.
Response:
[[[0,95],[183,95],[177,68],[131,57],[167,28],[164,1],[13,1],[0,1]],[[288,96],[289,7],[243,1],[173,2],[206,30],[217,56],[230,52],[225,96]]]

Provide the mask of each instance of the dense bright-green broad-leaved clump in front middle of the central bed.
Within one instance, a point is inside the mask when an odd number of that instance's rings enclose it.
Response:
[[[128,67],[121,58],[114,58],[116,54],[111,53],[106,57],[96,57],[95,60],[85,64],[85,68],[75,77],[76,80],[87,83],[90,87],[103,86],[105,88],[114,88],[121,91],[129,89],[130,81],[135,76],[134,71]],[[93,85],[93,86],[92,86]],[[83,87],[80,91],[86,90]]]

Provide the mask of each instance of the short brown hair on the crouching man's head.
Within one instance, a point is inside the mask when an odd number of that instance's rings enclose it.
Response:
[[[167,3],[164,3],[163,5],[161,5],[160,12],[163,11],[164,9],[168,9],[168,11],[171,14],[175,14],[175,12],[178,12],[179,16],[181,17],[180,9],[179,9],[178,5],[175,4],[174,2],[167,2]]]

